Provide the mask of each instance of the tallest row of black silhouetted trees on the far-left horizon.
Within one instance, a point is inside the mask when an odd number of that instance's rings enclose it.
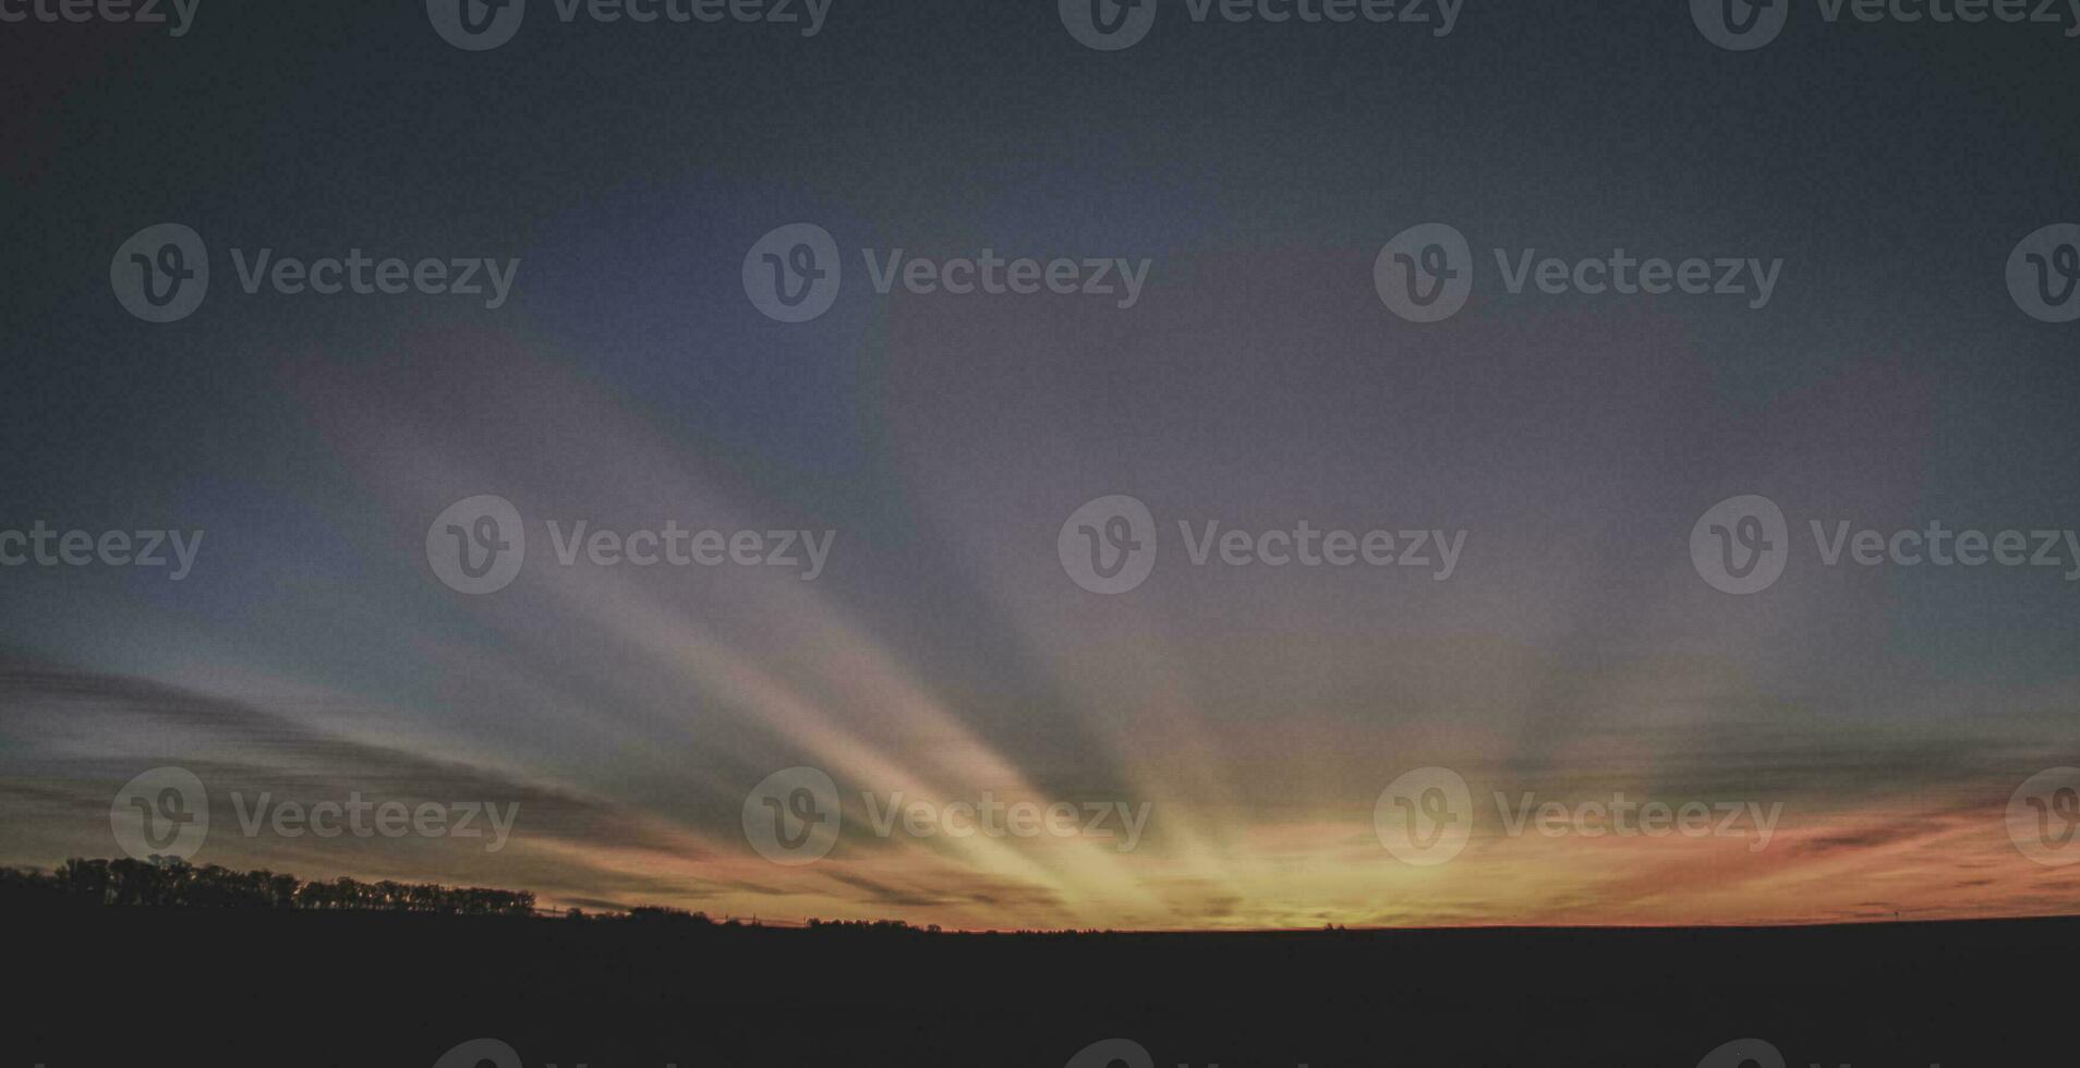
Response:
[[[314,912],[437,912],[447,916],[532,916],[524,889],[439,883],[302,881],[272,871],[231,871],[185,860],[67,860],[52,873],[0,869],[10,902],[77,902],[162,908],[302,908]]]

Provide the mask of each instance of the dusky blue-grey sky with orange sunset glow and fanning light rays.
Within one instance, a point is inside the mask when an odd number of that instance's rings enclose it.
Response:
[[[1048,2],[0,25],[0,864],[121,856],[141,798],[208,812],[198,864],[778,923],[2074,912],[2080,345],[2005,278],[2080,216],[2080,42],[1188,10],[1119,50]],[[110,274],[168,222],[208,295],[146,322]],[[805,222],[842,281],[782,322],[747,278]],[[1431,222],[1473,291],[1414,322],[1377,272]],[[248,293],[262,249],[518,266],[495,308]],[[1113,293],[878,291],[984,249]],[[1753,278],[1512,291],[1548,256]],[[468,592],[483,497],[524,563]],[[1731,594],[1747,497],[1787,557]],[[37,524],[202,536],[4,563]],[[759,563],[632,563],[668,524]],[[1402,561],[1260,538],[1300,524]],[[1930,524],[2055,559],[1830,563]],[[1088,588],[1127,528],[1146,578]],[[291,833],[349,800],[447,829]]]

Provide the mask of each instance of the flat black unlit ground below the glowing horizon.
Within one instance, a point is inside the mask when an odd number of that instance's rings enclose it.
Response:
[[[1691,1068],[1747,1037],[1793,1066],[2070,1064],[2080,960],[2080,920],[1015,937],[64,908],[0,939],[0,1068],[420,1068],[478,1037],[528,1068],[1061,1068],[1100,1039],[1140,1043],[1134,1068]],[[1774,1068],[1708,1068],[1741,1064]]]

